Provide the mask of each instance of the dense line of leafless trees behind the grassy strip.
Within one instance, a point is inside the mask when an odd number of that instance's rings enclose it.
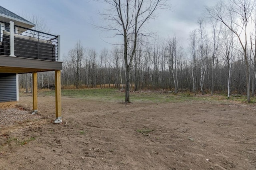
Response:
[[[190,36],[191,43],[193,35],[194,32]],[[230,70],[232,93],[246,93],[246,68],[243,56],[237,51],[233,52],[232,61],[227,60],[222,49],[226,44],[219,47],[218,54],[213,58],[208,42],[209,51],[206,51],[208,55],[202,58],[200,46],[191,44],[186,50],[175,36],[156,42],[158,43],[153,45],[149,43],[138,45],[131,73],[133,91],[164,89],[174,93],[182,91],[200,93],[203,89],[204,92],[211,93],[213,82],[214,93],[228,93],[229,62],[230,65],[232,63]],[[193,53],[196,53],[194,58]],[[116,46],[112,50],[102,49],[97,53],[94,49],[84,49],[81,43],[77,42],[75,47],[64,56],[62,87],[124,88],[126,73],[122,54],[122,47]],[[251,65],[251,73],[253,72],[253,65]],[[30,89],[31,82],[31,75],[20,75],[20,87]],[[251,77],[251,82],[253,94],[254,76]],[[54,88],[54,72],[38,73],[38,88]]]

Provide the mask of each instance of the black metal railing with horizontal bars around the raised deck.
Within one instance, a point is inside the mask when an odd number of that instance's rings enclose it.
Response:
[[[0,54],[10,55],[10,28],[0,27]],[[14,26],[14,55],[33,59],[58,61],[59,36]]]

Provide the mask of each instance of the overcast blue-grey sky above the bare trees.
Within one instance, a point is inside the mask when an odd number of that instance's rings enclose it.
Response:
[[[212,6],[215,0],[173,0],[171,10],[158,10],[158,18],[147,25],[159,38],[176,34],[186,47],[189,32],[197,27],[197,19],[202,16],[205,6]],[[92,0],[5,0],[1,6],[16,13],[39,16],[47,22],[50,33],[61,36],[61,57],[81,40],[84,47],[100,52],[109,43],[122,43],[120,38],[106,38],[108,33],[94,28],[90,23],[100,24],[97,12],[104,4]],[[109,42],[109,43],[106,43]]]

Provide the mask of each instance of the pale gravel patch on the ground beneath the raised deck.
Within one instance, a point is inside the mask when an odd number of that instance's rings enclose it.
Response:
[[[0,129],[35,119],[40,119],[40,115],[32,115],[31,111],[22,107],[0,109]]]

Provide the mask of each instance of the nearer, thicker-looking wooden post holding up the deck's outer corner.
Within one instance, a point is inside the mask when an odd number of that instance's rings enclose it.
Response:
[[[61,120],[61,91],[60,91],[60,70],[55,70],[55,104],[56,104],[56,120],[54,123],[62,123]]]

